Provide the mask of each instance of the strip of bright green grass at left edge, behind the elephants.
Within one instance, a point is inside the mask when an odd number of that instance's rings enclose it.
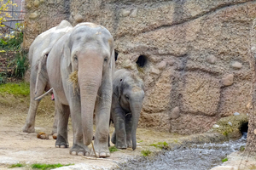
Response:
[[[0,94],[14,94],[15,96],[28,96],[29,95],[29,83],[6,83],[0,84]]]

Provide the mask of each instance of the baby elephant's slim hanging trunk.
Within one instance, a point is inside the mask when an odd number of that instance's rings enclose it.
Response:
[[[131,105],[131,115],[132,115],[132,126],[131,126],[131,140],[132,140],[132,150],[135,150],[137,147],[136,131],[137,124],[140,118],[142,105],[141,102],[137,101]]]

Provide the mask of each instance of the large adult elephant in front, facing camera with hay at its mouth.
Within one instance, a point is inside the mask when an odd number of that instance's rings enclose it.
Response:
[[[87,145],[93,138],[93,113],[96,113],[94,148],[100,157],[110,156],[108,121],[114,71],[113,37],[92,23],[81,23],[55,43],[47,59],[49,82],[54,89],[59,116],[56,147],[66,148],[67,122],[73,125],[72,155],[90,155]],[[78,71],[78,88],[69,75]],[[92,153],[93,155],[93,153]]]

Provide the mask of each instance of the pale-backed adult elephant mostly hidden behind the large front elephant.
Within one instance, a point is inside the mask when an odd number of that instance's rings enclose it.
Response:
[[[47,59],[47,55],[54,46],[55,42],[72,28],[73,26],[71,26],[67,20],[62,20],[59,26],[55,26],[48,31],[44,31],[42,34],[38,35],[38,37],[36,37],[29,48],[28,56],[31,65],[30,106],[26,116],[26,124],[22,128],[23,132],[35,132],[35,118],[38,111],[39,101],[35,101],[34,98],[37,97],[38,94],[43,94],[44,90],[47,91],[50,88],[49,78],[46,72],[46,65],[41,65],[42,63],[46,64],[46,62],[42,62],[42,60]],[[41,69],[41,71],[38,71],[38,67]],[[55,122],[52,133],[57,132],[56,125],[57,119],[55,115]]]

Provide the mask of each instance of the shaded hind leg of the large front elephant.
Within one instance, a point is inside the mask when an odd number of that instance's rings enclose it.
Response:
[[[69,106],[68,105],[62,105],[59,102],[59,99],[55,98],[55,111],[57,112],[59,117],[58,121],[58,135],[55,142],[56,148],[68,148],[68,140],[67,140],[67,123],[68,123],[68,117],[70,114]]]

